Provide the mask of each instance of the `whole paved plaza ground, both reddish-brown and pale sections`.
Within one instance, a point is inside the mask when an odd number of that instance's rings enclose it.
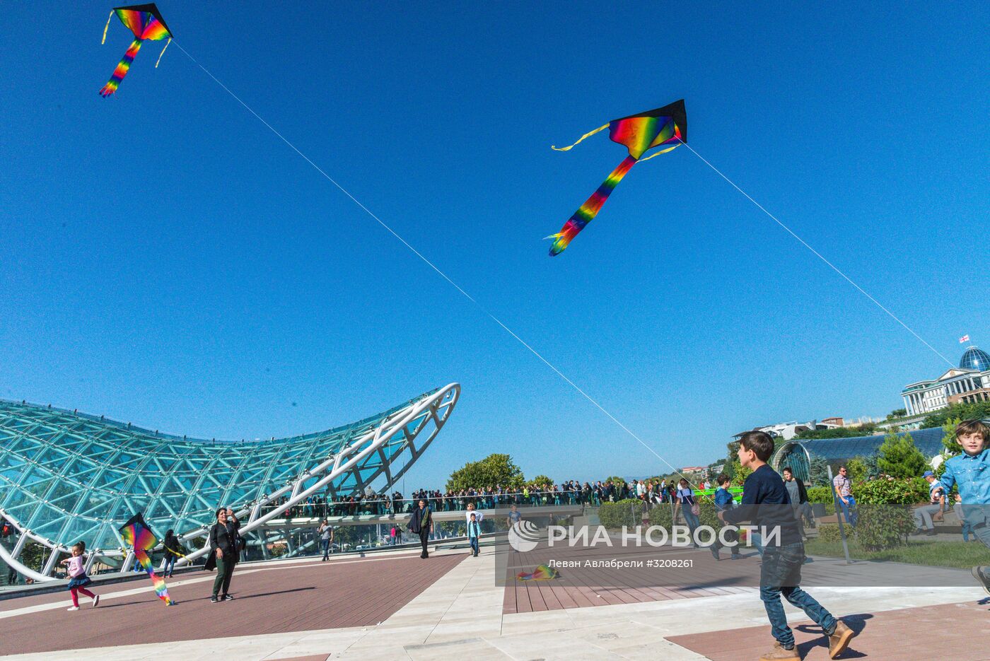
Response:
[[[65,612],[64,592],[23,597],[0,602],[0,636],[12,659],[80,661],[163,653],[241,660],[746,661],[772,644],[753,588],[622,588],[615,581],[596,588],[571,585],[564,574],[498,587],[500,556],[503,567],[507,556],[510,567],[529,560],[489,545],[477,558],[454,549],[429,560],[397,551],[326,563],[253,563],[238,568],[237,599],[228,603],[209,602],[212,574],[177,576],[169,583],[178,602],[173,608],[144,581],[97,586],[99,608],[84,600],[76,613]],[[829,571],[827,559],[819,562]],[[877,570],[858,563],[857,571]],[[990,599],[976,587],[813,592],[857,631],[840,658],[903,661],[938,650],[943,659],[990,659]],[[827,659],[817,627],[787,608],[805,658]]]

